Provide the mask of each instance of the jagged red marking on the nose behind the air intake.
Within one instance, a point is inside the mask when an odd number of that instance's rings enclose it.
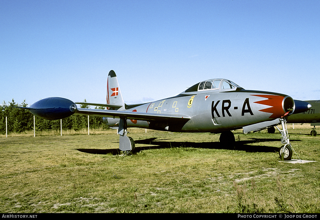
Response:
[[[266,105],[266,106],[272,106],[270,108],[265,108],[265,109],[259,110],[260,112],[272,113],[272,115],[269,118],[280,118],[284,115],[285,112],[282,107],[282,101],[284,99],[283,96],[277,96],[277,95],[252,95],[252,96],[268,98],[266,100],[257,101],[254,103],[262,104],[262,105]]]

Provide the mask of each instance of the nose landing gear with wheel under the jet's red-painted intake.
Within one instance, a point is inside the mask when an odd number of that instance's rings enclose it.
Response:
[[[294,149],[292,148],[290,140],[289,140],[289,134],[288,134],[286,120],[287,120],[286,118],[280,119],[280,122],[282,125],[282,130],[280,130],[277,126],[276,126],[276,128],[281,133],[281,144],[284,144],[279,148],[279,155],[281,157],[281,154],[283,154],[283,159],[285,161],[289,161],[289,160],[291,160],[292,150],[294,151]],[[299,156],[298,156],[298,158],[299,158]],[[300,158],[299,158],[299,160],[300,160]]]

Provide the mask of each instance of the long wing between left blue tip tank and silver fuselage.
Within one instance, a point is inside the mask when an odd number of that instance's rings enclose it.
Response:
[[[75,114],[100,116],[108,118],[127,118],[131,120],[140,121],[158,121],[158,120],[176,120],[181,122],[187,122],[190,120],[190,116],[184,114],[156,114],[156,113],[143,113],[143,112],[131,112],[131,111],[116,111],[116,110],[104,110],[104,109],[90,109],[90,108],[78,108]]]

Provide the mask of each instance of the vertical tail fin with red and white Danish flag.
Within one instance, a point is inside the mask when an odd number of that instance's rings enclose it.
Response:
[[[107,104],[122,105],[120,109],[124,109],[124,100],[122,98],[118,79],[115,71],[110,70],[107,81]]]

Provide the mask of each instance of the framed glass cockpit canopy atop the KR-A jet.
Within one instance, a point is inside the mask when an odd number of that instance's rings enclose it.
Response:
[[[232,91],[232,90],[243,90],[242,87],[238,86],[236,83],[231,82],[230,80],[226,79],[210,79],[206,81],[202,81],[191,86],[189,89],[185,90],[184,92],[196,92],[196,91],[208,91],[216,90],[219,91]]]

